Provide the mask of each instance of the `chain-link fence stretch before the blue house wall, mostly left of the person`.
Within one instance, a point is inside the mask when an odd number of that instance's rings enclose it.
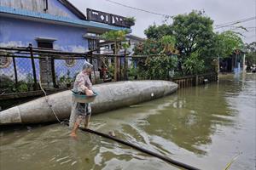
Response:
[[[39,48],[1,48],[0,94],[23,93],[45,89],[72,88],[85,59],[95,66],[91,80],[99,79],[100,58],[91,54],[63,53]]]

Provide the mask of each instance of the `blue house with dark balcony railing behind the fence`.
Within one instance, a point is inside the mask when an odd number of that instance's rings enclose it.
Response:
[[[87,8],[87,16],[67,0],[1,0],[0,1],[0,48],[32,47],[53,48],[67,52],[84,53],[96,48],[96,39],[90,34],[100,35],[110,30],[128,30],[132,23],[125,17],[103,13]],[[27,65],[21,65],[26,62]],[[50,85],[51,64],[45,59],[36,59],[37,77]],[[59,63],[57,63],[59,62]],[[32,71],[30,59],[16,59],[18,77],[26,79]],[[66,74],[57,66],[67,66],[72,74],[78,70],[79,63],[67,65],[65,61],[55,61],[56,77]],[[0,58],[0,76],[14,77],[13,63],[10,59]],[[62,69],[63,70],[63,69]],[[75,70],[75,71],[72,71]],[[73,76],[73,75],[72,75]]]

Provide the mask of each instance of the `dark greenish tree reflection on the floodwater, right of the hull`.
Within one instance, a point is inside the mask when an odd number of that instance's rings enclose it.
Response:
[[[201,144],[211,144],[211,135],[215,132],[216,124],[233,125],[230,118],[234,114],[227,107],[223,96],[216,86],[211,93],[204,87],[181,89],[174,101],[160,116],[149,116],[150,124],[158,127],[143,127],[148,134],[157,134],[171,140],[179,147],[199,155],[207,154],[199,147]],[[206,95],[206,93],[208,93]],[[196,97],[196,98],[195,98]]]

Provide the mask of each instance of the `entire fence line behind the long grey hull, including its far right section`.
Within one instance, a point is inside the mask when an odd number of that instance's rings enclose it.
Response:
[[[73,87],[75,77],[81,71],[84,60],[94,65],[90,79],[93,84],[113,82],[115,69],[117,81],[137,79],[137,69],[130,68],[145,56],[113,54],[71,53],[47,48],[0,48],[0,100],[42,95],[39,82],[47,92],[55,93]],[[152,55],[157,56],[157,55]],[[118,66],[114,59],[118,58]],[[201,84],[203,79],[216,81],[216,75],[181,77],[172,79],[180,88]],[[21,94],[20,94],[21,93]],[[50,93],[48,93],[50,94]]]

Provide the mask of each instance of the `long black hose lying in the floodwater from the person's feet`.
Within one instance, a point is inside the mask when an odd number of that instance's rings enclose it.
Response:
[[[144,149],[144,148],[142,148],[142,147],[139,147],[139,146],[137,146],[137,145],[135,145],[135,144],[131,144],[131,143],[126,142],[126,141],[124,141],[124,140],[114,138],[113,136],[110,136],[110,135],[108,135],[108,134],[99,133],[99,132],[96,132],[96,131],[91,130],[91,129],[89,129],[89,128],[79,128],[79,129],[82,130],[82,131],[84,131],[84,132],[93,133],[93,134],[102,136],[102,137],[107,138],[107,139],[112,139],[112,140],[114,140],[114,141],[116,141],[116,142],[118,142],[118,143],[120,143],[120,144],[125,144],[125,145],[127,145],[127,146],[130,146],[131,148],[134,148],[134,149],[136,149],[136,150],[142,151],[143,153],[146,153],[146,154],[148,154],[148,155],[150,155],[150,156],[157,157],[157,158],[159,158],[159,159],[161,159],[161,160],[163,160],[163,161],[166,161],[166,162],[168,162],[168,163],[171,163],[172,165],[175,165],[175,166],[177,166],[177,167],[183,167],[183,168],[189,169],[189,170],[199,170],[199,168],[197,168],[197,167],[192,167],[192,166],[189,166],[189,165],[187,165],[187,164],[184,164],[183,162],[179,162],[179,161],[172,160],[172,159],[169,158],[169,157],[161,156],[160,154],[157,154],[157,153],[155,153],[155,152],[153,152],[153,151],[151,151],[151,150],[146,150],[146,149]]]

